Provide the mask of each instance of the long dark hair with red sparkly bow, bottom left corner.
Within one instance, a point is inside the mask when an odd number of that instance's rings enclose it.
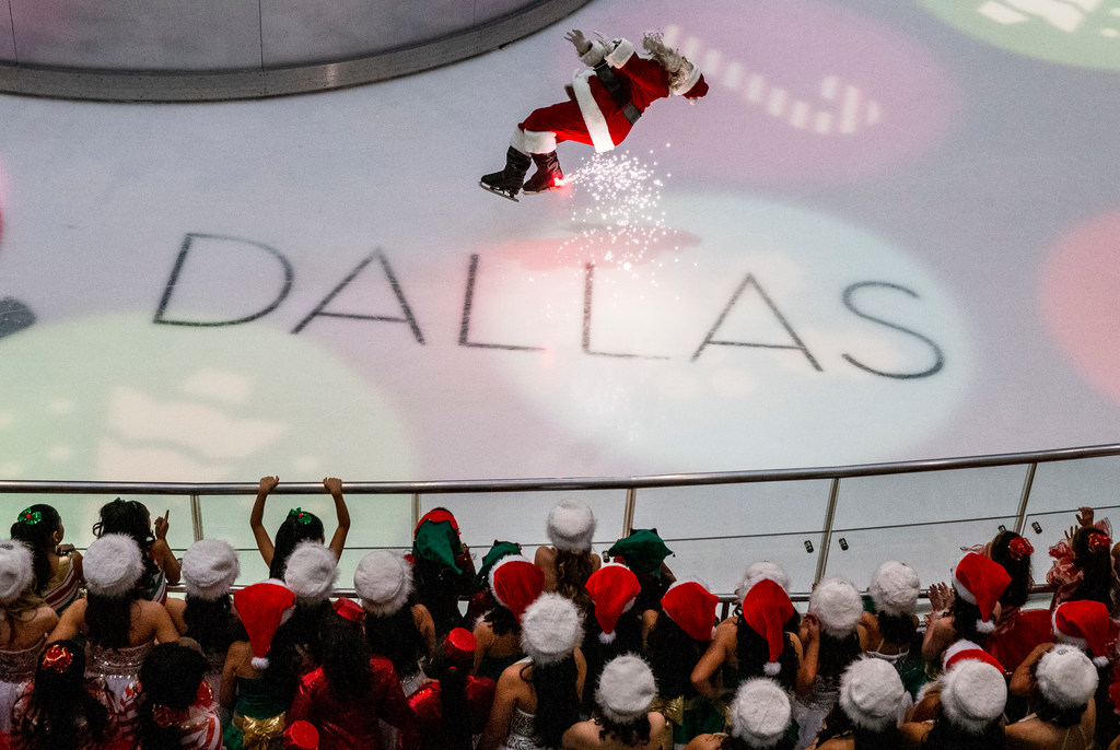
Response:
[[[44,667],[53,646],[69,651],[65,667]],[[57,663],[56,663],[57,664]],[[31,706],[28,712],[31,742],[45,750],[74,750],[82,744],[83,724],[94,741],[100,741],[109,726],[109,711],[85,688],[85,647],[73,640],[56,640],[39,655],[35,672]]]

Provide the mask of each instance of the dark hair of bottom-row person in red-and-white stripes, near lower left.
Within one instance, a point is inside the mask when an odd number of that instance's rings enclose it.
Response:
[[[198,695],[206,674],[206,658],[193,648],[160,644],[151,649],[140,667],[137,734],[142,748],[177,748],[177,726],[160,726],[152,715],[157,706],[186,711]]]

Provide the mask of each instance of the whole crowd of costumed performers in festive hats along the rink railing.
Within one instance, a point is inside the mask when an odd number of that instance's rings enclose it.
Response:
[[[1118,748],[1117,574],[1108,522],[1082,508],[1051,550],[1049,608],[1025,608],[1033,547],[1001,531],[950,583],[884,562],[866,593],[814,587],[808,611],[769,562],[718,620],[676,580],[656,529],[592,551],[590,507],[550,510],[530,560],[495,541],[477,561],[438,508],[408,555],[380,550],[335,597],[349,516],[250,524],[267,581],[234,589],[237,552],[177,560],[168,517],[101,508],[85,554],[49,505],[0,542],[0,747],[76,750],[370,748]],[[168,597],[181,580],[186,596]],[[464,612],[463,602],[466,602]]]

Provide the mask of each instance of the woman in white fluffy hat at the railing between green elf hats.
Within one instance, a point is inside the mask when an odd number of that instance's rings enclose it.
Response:
[[[591,506],[576,497],[564,498],[549,512],[545,532],[552,546],[536,547],[533,554],[533,562],[544,571],[544,590],[571,599],[584,612],[591,603],[585,584],[603,564],[591,552],[595,527]]]

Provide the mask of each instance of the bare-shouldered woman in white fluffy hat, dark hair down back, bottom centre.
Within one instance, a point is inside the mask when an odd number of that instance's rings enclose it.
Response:
[[[497,681],[494,707],[479,750],[559,748],[579,721],[587,665],[579,644],[582,618],[576,604],[543,593],[525,610],[521,640],[529,655]]]

